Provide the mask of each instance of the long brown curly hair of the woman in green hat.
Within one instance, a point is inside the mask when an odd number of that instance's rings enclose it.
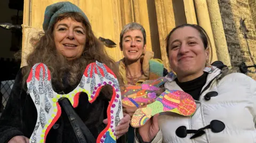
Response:
[[[86,66],[97,60],[98,62],[106,64],[113,70],[120,86],[123,86],[123,80],[119,75],[114,60],[108,56],[101,41],[94,36],[90,23],[86,22],[83,16],[76,12],[59,15],[55,23],[66,18],[71,18],[84,24],[86,30],[86,44],[83,54],[72,61],[68,61],[65,56],[62,56],[55,47],[53,24],[51,29],[45,31],[43,35],[39,33],[39,38],[32,38],[30,40],[31,44],[34,44],[34,51],[27,56],[28,65],[22,69],[24,85],[33,65],[36,63],[44,63],[51,71],[52,82],[60,85],[58,88],[63,88],[62,80],[66,75],[68,75],[68,84],[74,87],[81,81]]]

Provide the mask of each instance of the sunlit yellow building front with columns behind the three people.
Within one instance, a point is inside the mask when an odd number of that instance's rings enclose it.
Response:
[[[24,0],[22,63],[32,47],[29,39],[42,31],[47,5],[63,0]],[[138,22],[147,32],[147,50],[161,58],[165,68],[169,61],[165,37],[183,23],[202,26],[212,44],[212,62],[219,60],[228,66],[256,62],[256,0],[67,0],[80,7],[92,24],[97,37],[113,40],[116,48],[106,51],[115,61],[123,55],[119,50],[119,34],[130,22]],[[40,6],[38,6],[40,5]],[[169,69],[170,70],[170,69]],[[248,75],[256,80],[255,68]]]

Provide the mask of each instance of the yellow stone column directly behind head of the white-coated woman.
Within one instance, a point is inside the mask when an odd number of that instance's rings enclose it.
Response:
[[[214,0],[215,1],[215,0]],[[196,5],[196,13],[197,13],[197,19],[198,19],[198,24],[199,26],[203,27],[204,30],[206,31],[207,35],[209,36],[209,39],[211,41],[211,57],[210,57],[210,62],[214,62],[218,60],[218,56],[216,53],[216,45],[213,37],[213,31],[211,27],[211,21],[210,21],[210,16],[209,16],[209,11],[207,8],[207,3],[205,0],[195,0],[195,5]]]

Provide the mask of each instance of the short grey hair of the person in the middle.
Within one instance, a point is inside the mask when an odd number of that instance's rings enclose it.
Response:
[[[123,43],[124,33],[126,33],[127,31],[131,31],[131,30],[140,30],[143,35],[143,38],[144,38],[143,45],[145,45],[147,43],[145,29],[141,26],[141,24],[133,22],[133,23],[126,24],[120,33],[119,46],[121,49],[123,49],[122,43]]]

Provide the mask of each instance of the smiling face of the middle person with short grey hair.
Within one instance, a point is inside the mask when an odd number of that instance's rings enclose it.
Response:
[[[144,38],[140,30],[130,30],[124,33],[122,49],[127,61],[136,62],[140,59],[143,51],[146,49]]]

